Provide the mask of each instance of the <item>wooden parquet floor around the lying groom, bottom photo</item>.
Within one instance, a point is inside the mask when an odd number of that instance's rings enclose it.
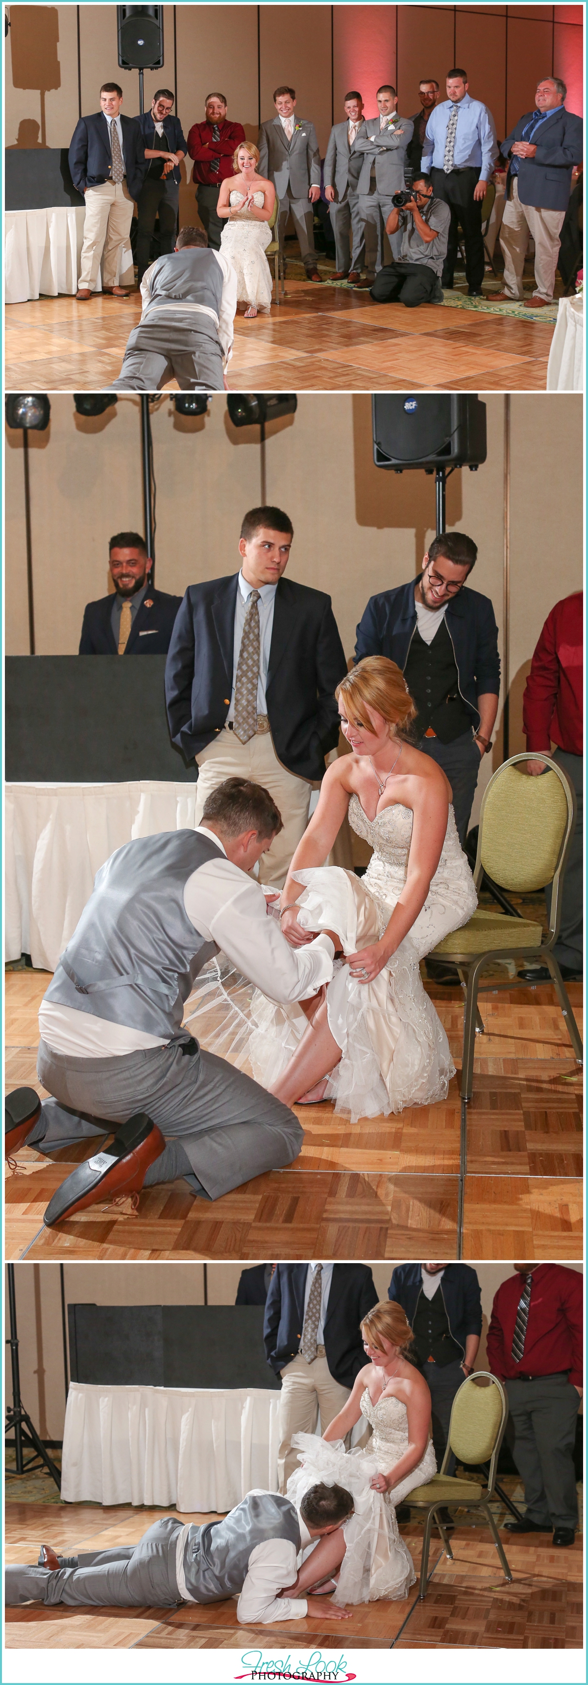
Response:
[[[170,1511],[168,1511],[170,1513]],[[67,1555],[76,1550],[106,1550],[136,1543],[160,1520],[162,1510],[89,1505],[8,1503],[7,1562],[37,1562],[39,1545],[51,1543]],[[182,1515],[185,1522],[217,1516]],[[401,1535],[420,1572],[423,1527],[408,1523]],[[337,1641],[354,1650],[416,1648],[581,1648],[581,1537],[571,1549],[554,1549],[551,1533],[532,1540],[510,1540],[502,1533],[512,1572],[509,1586],[487,1528],[457,1527],[452,1533],[453,1562],[433,1533],[430,1589],[418,1602],[416,1586],[401,1602],[359,1604],[352,1619],[340,1623],[288,1621],[276,1626],[238,1626],[236,1601],[214,1606],[184,1604],[179,1609],[74,1609],[57,1604],[25,1604],[7,1609],[5,1645],[39,1650],[246,1650],[249,1645],[295,1641],[322,1648]]]

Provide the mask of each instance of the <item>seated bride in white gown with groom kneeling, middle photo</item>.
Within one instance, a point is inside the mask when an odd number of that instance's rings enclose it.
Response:
[[[409,741],[416,709],[396,662],[367,655],[337,698],[352,753],[325,772],[280,920],[293,945],[329,930],[342,962],[302,1006],[253,998],[249,1058],[286,1105],[329,1099],[357,1121],[446,1099],[455,1067],[420,960],[467,923],[477,895],[445,772]],[[322,864],[347,812],[374,849],[364,878]]]

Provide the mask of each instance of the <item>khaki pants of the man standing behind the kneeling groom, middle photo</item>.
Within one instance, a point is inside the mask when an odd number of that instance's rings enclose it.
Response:
[[[227,726],[219,731],[212,743],[195,757],[199,782],[195,789],[195,817],[199,826],[207,795],[224,782],[224,778],[253,778],[270,790],[283,819],[283,831],[273,839],[271,848],[259,859],[259,883],[268,883],[275,890],[283,890],[288,866],[300,837],[308,824],[308,804],[312,785],[307,778],[297,778],[293,772],[276,757],[271,731],[258,731],[249,743],[241,743]]]

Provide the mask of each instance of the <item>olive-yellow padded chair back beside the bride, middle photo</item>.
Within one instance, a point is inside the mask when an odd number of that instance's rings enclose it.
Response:
[[[541,760],[549,772],[537,778],[517,770],[519,762]],[[553,883],[549,935],[561,918],[561,878],[576,826],[576,795],[549,755],[512,755],[485,789],[478,826],[473,881],[482,871],[521,895]]]

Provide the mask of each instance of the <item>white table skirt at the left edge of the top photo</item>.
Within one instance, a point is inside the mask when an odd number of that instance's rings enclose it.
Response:
[[[84,206],[52,206],[45,211],[5,212],[5,302],[20,305],[45,293],[76,293],[79,253],[84,239]],[[116,283],[135,280],[133,253],[125,246]],[[98,273],[96,292],[101,292]]]

